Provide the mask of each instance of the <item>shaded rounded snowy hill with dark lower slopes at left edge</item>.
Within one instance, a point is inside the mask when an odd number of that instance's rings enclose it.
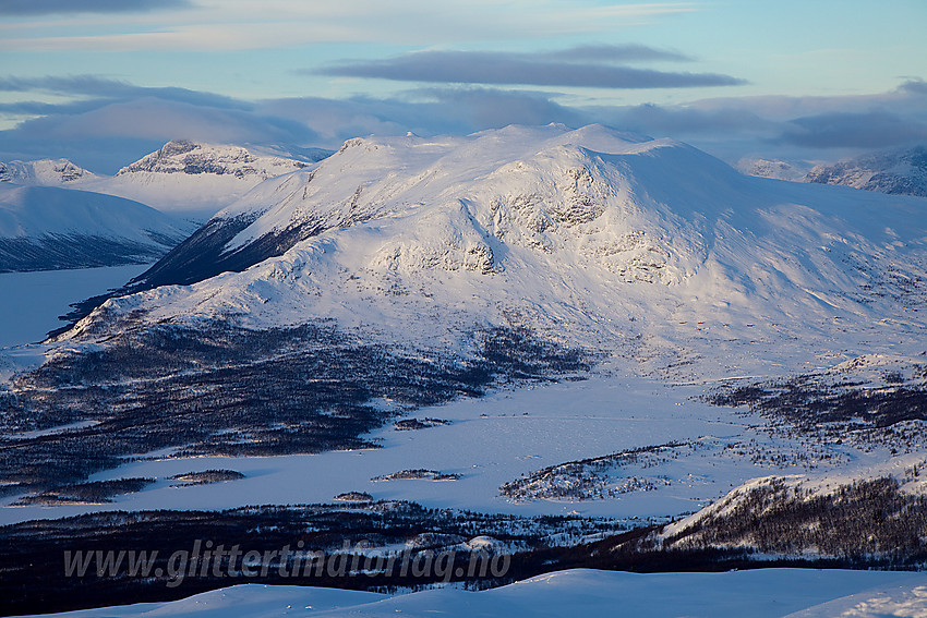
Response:
[[[121,197],[0,185],[0,272],[144,264],[190,231],[190,223]]]

